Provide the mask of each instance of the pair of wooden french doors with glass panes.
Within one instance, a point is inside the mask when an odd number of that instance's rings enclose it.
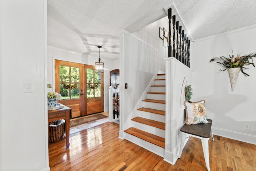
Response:
[[[103,73],[95,73],[92,65],[55,60],[55,92],[60,102],[72,108],[72,118],[104,109]]]

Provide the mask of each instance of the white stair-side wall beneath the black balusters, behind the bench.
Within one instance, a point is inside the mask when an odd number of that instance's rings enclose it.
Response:
[[[180,145],[180,128],[186,120],[184,108],[180,105],[184,78],[193,86],[193,71],[186,65],[169,57],[165,59],[166,102],[165,102],[165,156],[164,161],[175,164]]]

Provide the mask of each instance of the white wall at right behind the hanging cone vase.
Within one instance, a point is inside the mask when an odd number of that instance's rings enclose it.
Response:
[[[212,57],[226,56],[238,51],[256,52],[256,26],[234,30],[191,43],[190,61],[194,71],[193,99],[206,100],[207,117],[213,120],[213,134],[256,144],[256,68],[240,72],[231,91],[228,71],[209,63]],[[253,59],[254,63],[256,59]],[[250,130],[244,129],[250,124]]]

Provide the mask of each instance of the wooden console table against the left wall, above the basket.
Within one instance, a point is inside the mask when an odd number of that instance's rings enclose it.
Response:
[[[72,108],[64,105],[63,108],[57,110],[48,110],[48,133],[49,123],[55,120],[65,119],[66,129],[66,147],[69,147],[69,120],[72,118]]]

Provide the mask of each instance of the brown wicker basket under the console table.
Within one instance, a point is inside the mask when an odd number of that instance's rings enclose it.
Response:
[[[64,121],[64,122],[63,122]],[[50,122],[49,126],[49,142],[60,141],[65,133],[65,120],[56,120]]]

